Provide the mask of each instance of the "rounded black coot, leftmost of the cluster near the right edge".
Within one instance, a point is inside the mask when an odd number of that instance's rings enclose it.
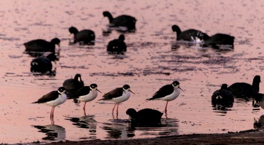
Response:
[[[223,84],[221,89],[216,90],[212,95],[212,104],[221,104],[224,106],[232,105],[234,97],[231,91],[227,90],[227,84]]]

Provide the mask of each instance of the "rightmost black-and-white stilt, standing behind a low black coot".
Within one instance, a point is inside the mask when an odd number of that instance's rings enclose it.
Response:
[[[180,95],[181,90],[182,89],[180,87],[180,83],[178,81],[174,81],[170,85],[165,85],[161,87],[158,91],[155,92],[152,98],[146,99],[146,101],[150,101],[150,100],[167,101],[165,106],[165,113],[166,113],[168,102],[176,99]]]

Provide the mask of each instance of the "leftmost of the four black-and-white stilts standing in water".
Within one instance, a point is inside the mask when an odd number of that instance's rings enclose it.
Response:
[[[57,91],[51,91],[46,95],[42,96],[37,102],[32,103],[44,103],[51,106],[50,116],[54,115],[54,108],[67,100],[65,95],[65,88],[60,87]]]

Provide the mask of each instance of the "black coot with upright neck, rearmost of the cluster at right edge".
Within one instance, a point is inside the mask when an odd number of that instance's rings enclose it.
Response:
[[[256,94],[260,90],[260,76],[256,75],[253,79],[252,85],[248,83],[234,83],[228,87],[235,98],[250,99],[253,94]]]

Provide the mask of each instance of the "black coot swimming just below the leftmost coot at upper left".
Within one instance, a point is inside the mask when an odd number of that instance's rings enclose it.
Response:
[[[40,73],[51,73],[52,63],[51,61],[56,61],[57,57],[54,53],[49,54],[47,57],[38,57],[34,58],[31,65],[31,72],[40,72]]]

